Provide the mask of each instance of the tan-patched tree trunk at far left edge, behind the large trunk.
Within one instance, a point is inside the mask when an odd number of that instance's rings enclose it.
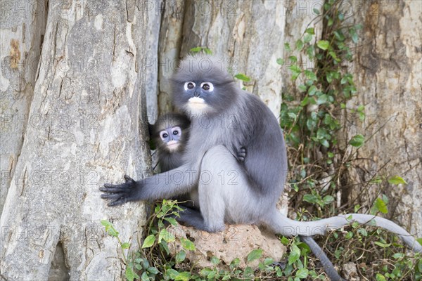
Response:
[[[42,1],[1,4],[0,214],[23,143],[46,25]]]

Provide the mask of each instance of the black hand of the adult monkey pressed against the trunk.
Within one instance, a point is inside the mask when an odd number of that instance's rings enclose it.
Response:
[[[124,204],[128,201],[136,200],[136,194],[138,194],[140,186],[136,184],[133,178],[124,175],[124,183],[113,185],[111,183],[105,183],[100,190],[104,192],[101,195],[103,199],[113,200],[108,203],[109,207]]]

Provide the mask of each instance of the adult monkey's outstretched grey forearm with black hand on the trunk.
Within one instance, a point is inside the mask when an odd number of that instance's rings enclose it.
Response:
[[[117,206],[129,201],[153,201],[189,192],[198,182],[198,169],[185,164],[177,169],[156,174],[141,181],[124,176],[124,183],[105,183],[100,190],[101,198],[111,200],[108,206]]]

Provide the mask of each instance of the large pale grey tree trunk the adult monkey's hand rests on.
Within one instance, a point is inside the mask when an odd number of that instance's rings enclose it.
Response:
[[[46,280],[57,245],[71,280],[120,280],[117,240],[101,218],[122,240],[139,242],[142,205],[106,207],[98,190],[150,169],[137,69],[146,10],[134,3],[49,2],[31,126],[1,216],[0,272],[8,280]],[[51,277],[60,275],[55,269]]]

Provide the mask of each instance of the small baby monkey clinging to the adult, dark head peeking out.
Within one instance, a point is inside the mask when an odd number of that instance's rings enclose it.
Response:
[[[183,164],[183,155],[186,143],[189,138],[189,126],[191,122],[185,115],[179,113],[167,113],[160,116],[155,124],[149,125],[151,138],[153,139],[158,153],[158,163],[162,172],[175,169]],[[246,149],[241,148],[238,151],[238,161],[245,161]],[[181,204],[181,207],[195,208],[195,204],[191,204],[191,198],[188,196],[177,197],[178,200],[187,201]],[[178,217],[176,217],[178,219]],[[328,256],[322,251],[321,247],[314,241],[312,237],[300,236],[300,238],[308,244],[312,253],[321,261],[324,270],[331,280],[343,280],[335,270],[333,263]]]

